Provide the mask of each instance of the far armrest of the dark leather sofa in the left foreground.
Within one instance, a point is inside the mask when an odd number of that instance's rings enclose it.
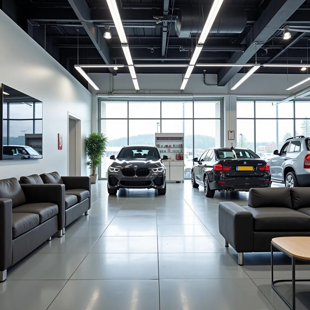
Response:
[[[65,224],[64,184],[20,184],[26,203],[49,202],[58,206],[58,230]]]

